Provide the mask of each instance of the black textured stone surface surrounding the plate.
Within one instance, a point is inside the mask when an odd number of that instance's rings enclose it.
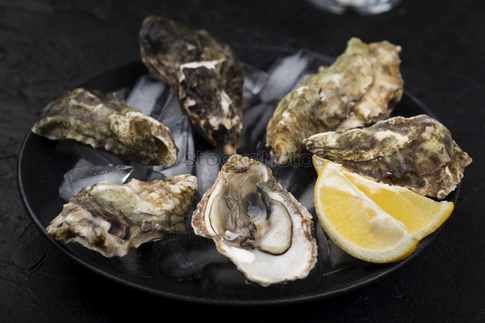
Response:
[[[404,0],[387,14],[356,17],[325,14],[303,0],[0,0],[0,321],[155,315],[166,322],[484,322],[483,3]],[[351,36],[403,46],[405,88],[473,157],[455,211],[432,245],[365,288],[278,308],[214,308],[152,296],[99,277],[52,246],[18,197],[21,140],[49,101],[136,60],[138,29],[149,14],[207,29],[229,44],[307,47],[332,56]]]

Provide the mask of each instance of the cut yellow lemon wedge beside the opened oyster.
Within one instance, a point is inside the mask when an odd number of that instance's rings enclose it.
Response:
[[[371,262],[404,259],[452,213],[407,188],[376,183],[314,157],[318,170],[315,210],[323,229],[343,250]]]

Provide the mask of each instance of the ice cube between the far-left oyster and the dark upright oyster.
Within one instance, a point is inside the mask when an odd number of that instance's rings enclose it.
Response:
[[[166,88],[167,85],[161,80],[149,74],[142,75],[131,89],[126,104],[142,111],[147,116],[156,118],[161,109],[157,105],[157,100]]]

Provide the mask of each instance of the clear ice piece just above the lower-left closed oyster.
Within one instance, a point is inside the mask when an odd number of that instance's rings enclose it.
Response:
[[[95,165],[71,169],[64,174],[65,182],[70,188],[72,195],[68,196],[68,190],[63,190],[64,200],[70,200],[83,187],[97,184],[99,182],[110,182],[113,184],[123,184],[133,171],[133,167],[126,165],[106,166]]]

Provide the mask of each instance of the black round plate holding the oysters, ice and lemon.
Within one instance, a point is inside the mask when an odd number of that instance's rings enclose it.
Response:
[[[234,46],[234,50],[243,62],[263,70],[278,57],[294,52],[267,46]],[[322,65],[329,65],[334,60],[319,54],[311,55]],[[132,86],[143,74],[146,74],[144,65],[133,62],[93,77],[80,86],[112,92]],[[394,110],[394,115],[405,117],[423,113],[436,118],[407,92]],[[199,140],[198,137],[194,139]],[[207,146],[203,140],[200,142]],[[315,268],[306,279],[268,287],[246,283],[235,266],[217,253],[210,239],[198,237],[193,231],[142,245],[122,258],[108,259],[75,243],[56,242],[47,235],[45,228],[63,208],[64,201],[58,195],[58,188],[68,170],[62,158],[55,153],[55,145],[56,141],[29,132],[20,149],[19,193],[36,227],[67,256],[99,275],[178,300],[219,305],[277,305],[335,296],[369,284],[401,267],[429,245],[437,233],[423,239],[416,250],[402,261],[374,264],[357,260],[335,246],[316,220],[319,257]],[[305,170],[305,173],[313,180],[316,178],[312,169]],[[298,192],[289,190],[298,196]],[[456,201],[458,190],[459,187],[447,200]],[[314,214],[314,209],[309,211]]]

